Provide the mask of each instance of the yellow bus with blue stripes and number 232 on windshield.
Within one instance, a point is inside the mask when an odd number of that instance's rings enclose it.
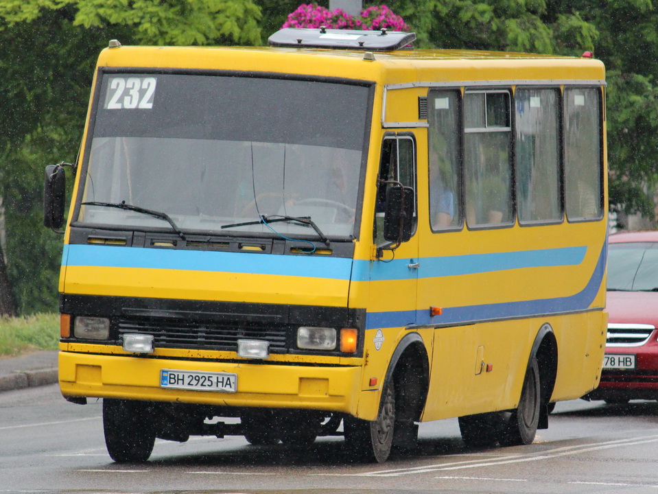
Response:
[[[470,447],[522,445],[596,388],[603,64],[413,40],[101,52],[59,379],[73,403],[103,399],[113,460],[235,434],[344,435],[383,462],[451,417]],[[65,165],[45,174],[54,229]]]

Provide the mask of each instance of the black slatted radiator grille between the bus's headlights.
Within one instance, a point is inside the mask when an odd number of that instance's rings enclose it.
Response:
[[[149,334],[156,346],[191,349],[237,350],[237,340],[270,342],[270,352],[285,353],[287,327],[253,322],[204,322],[178,318],[122,317],[116,321],[119,337],[125,333]]]

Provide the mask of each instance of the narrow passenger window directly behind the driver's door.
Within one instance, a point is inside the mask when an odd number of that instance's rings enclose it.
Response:
[[[430,178],[432,231],[460,226],[460,95],[457,91],[430,91],[427,166]]]

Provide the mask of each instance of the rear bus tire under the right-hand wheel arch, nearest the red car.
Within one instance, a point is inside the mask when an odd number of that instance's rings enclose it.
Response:
[[[537,357],[533,355],[526,369],[519,407],[508,414],[500,429],[500,445],[519,446],[532,443],[539,425],[540,398],[539,364]]]

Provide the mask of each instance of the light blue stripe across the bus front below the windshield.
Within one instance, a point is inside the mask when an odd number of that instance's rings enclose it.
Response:
[[[274,274],[349,281],[352,259],[325,256],[291,256],[209,250],[167,250],[115,246],[64,246],[66,266],[147,268]]]

